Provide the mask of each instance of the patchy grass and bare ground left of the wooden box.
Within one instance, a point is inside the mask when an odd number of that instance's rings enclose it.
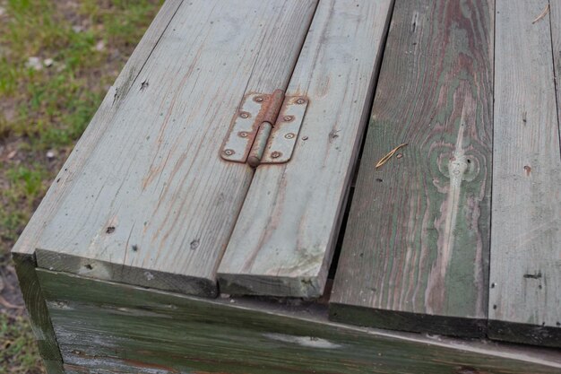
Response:
[[[0,0],[0,270],[161,3]],[[0,374],[39,372],[27,320],[0,305]]]

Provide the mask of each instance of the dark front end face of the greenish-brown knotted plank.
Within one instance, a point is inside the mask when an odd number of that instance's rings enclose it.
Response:
[[[329,319],[357,326],[466,338],[482,338],[487,332],[484,318],[436,316],[334,302],[330,303]]]

